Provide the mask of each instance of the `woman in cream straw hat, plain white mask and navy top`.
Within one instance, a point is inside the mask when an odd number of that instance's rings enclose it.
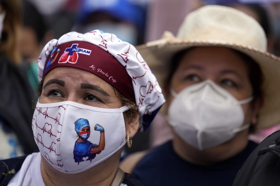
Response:
[[[280,59],[266,52],[261,26],[239,10],[204,6],[177,37],[166,32],[139,52],[164,87],[174,139],[121,167],[148,185],[232,185],[257,146],[250,129],[280,121]]]

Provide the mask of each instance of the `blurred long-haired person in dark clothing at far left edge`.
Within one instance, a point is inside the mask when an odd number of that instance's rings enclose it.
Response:
[[[32,137],[34,92],[19,67],[21,3],[0,1],[0,159],[38,151]]]

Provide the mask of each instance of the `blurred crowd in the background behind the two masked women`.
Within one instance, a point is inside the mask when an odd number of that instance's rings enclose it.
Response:
[[[206,4],[219,4],[255,18],[267,36],[268,52],[280,56],[277,0],[2,0],[0,3],[0,51],[1,58],[7,61],[0,63],[3,99],[0,101],[0,159],[37,151],[30,128],[31,105],[38,85],[37,58],[50,39],[63,33],[100,29],[140,45],[160,39],[166,30],[175,35],[189,12]],[[260,142],[278,129],[275,125],[250,135],[250,139]],[[134,146],[125,149],[123,155],[170,139],[171,130],[164,115],[159,114],[149,130],[135,136]]]

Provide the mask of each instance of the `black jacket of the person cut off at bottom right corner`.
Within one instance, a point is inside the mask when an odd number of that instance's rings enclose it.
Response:
[[[263,140],[246,160],[234,186],[280,185],[280,131]]]

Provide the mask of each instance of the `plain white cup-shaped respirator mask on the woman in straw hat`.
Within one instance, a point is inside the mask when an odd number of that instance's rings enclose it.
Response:
[[[238,101],[213,81],[207,80],[186,87],[175,97],[168,109],[168,122],[186,143],[199,150],[218,146],[232,139],[244,126],[241,104],[253,97]]]

